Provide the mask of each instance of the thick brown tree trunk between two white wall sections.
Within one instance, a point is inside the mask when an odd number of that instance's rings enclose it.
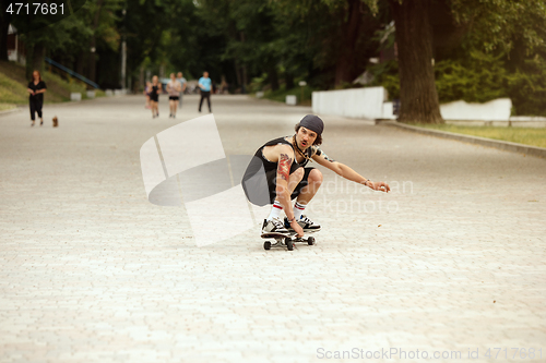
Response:
[[[400,117],[410,123],[443,123],[432,66],[430,0],[389,0],[396,26]]]

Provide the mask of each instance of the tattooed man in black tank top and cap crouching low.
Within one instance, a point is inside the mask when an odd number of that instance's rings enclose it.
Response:
[[[269,217],[263,221],[262,235],[271,233],[287,234],[294,231],[298,237],[304,232],[316,232],[320,226],[304,215],[304,210],[322,183],[322,173],[307,167],[311,160],[334,171],[339,176],[364,184],[375,191],[389,192],[385,182],[372,182],[349,167],[334,161],[319,148],[322,144],[324,123],[314,114],[307,114],[296,124],[296,134],[272,140],[260,147],[242,178],[242,187],[249,201],[257,205],[273,204]],[[263,168],[263,169],[262,169]],[[260,171],[265,172],[269,201],[260,203]],[[262,173],[263,173],[262,171]],[[263,195],[263,193],[261,193]],[[296,198],[294,208],[292,199]],[[284,209],[286,218],[281,220]]]

